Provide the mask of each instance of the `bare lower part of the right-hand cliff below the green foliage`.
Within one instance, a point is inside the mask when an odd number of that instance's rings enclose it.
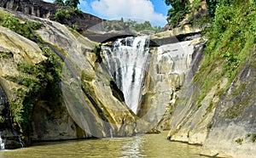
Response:
[[[201,67],[194,78],[198,65],[192,67],[192,77],[185,79],[178,96],[168,137],[172,141],[202,144],[202,155],[253,157],[256,92],[252,63],[253,53],[246,64],[240,65],[231,83],[227,76],[220,75],[225,70],[218,59],[212,61],[212,67]]]

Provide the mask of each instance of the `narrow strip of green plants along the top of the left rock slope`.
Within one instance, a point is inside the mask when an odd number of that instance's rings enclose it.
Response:
[[[33,40],[35,37],[35,30],[40,29],[43,25],[37,22],[27,20],[20,20],[8,13],[1,13],[0,25],[7,27],[12,31],[20,34],[23,37]]]

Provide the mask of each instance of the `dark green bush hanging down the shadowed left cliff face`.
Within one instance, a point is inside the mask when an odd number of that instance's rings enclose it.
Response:
[[[23,134],[38,100],[55,100],[61,95],[61,69],[49,48],[42,48],[42,52],[48,59],[37,65],[21,63],[18,67],[22,75],[6,77],[21,86],[16,90],[16,98],[11,101],[11,109],[15,127]]]

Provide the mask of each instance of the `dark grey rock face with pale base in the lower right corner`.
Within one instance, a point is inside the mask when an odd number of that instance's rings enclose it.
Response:
[[[256,155],[256,69],[250,59],[219,100],[212,128],[201,154],[253,157]]]

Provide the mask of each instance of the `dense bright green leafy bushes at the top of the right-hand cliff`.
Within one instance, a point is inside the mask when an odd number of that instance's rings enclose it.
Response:
[[[225,69],[231,77],[241,60],[247,57],[248,43],[256,37],[255,4],[226,3],[218,6],[212,26],[207,30],[207,53],[218,51],[216,55],[225,59]],[[252,47],[252,46],[251,46]],[[249,48],[251,48],[249,47]]]

